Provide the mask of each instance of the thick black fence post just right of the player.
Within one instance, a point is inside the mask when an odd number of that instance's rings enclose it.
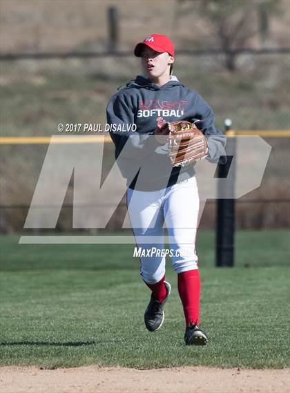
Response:
[[[231,119],[224,121],[225,135],[232,134]],[[230,151],[235,151],[235,137],[227,139],[227,145],[233,144]],[[230,166],[234,165],[233,156],[227,156],[226,164],[218,164],[218,178],[226,178]],[[221,190],[222,183],[218,183],[218,195],[224,195],[224,190]],[[228,183],[226,193],[234,191],[234,177],[233,182]],[[220,191],[219,191],[220,190]],[[234,195],[234,194],[231,194]],[[216,260],[217,267],[233,267],[234,265],[234,236],[235,236],[235,200],[220,198],[217,204],[217,222],[216,222]]]

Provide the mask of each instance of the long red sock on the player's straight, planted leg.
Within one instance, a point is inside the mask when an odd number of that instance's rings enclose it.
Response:
[[[178,293],[182,301],[186,329],[189,323],[199,323],[200,316],[200,272],[198,269],[177,274]]]

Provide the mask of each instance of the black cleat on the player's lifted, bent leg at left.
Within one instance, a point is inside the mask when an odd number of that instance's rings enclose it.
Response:
[[[160,329],[164,321],[163,309],[171,291],[171,285],[169,284],[169,282],[164,281],[164,285],[167,291],[166,298],[164,299],[164,301],[160,302],[156,300],[153,294],[151,294],[150,302],[145,310],[144,322],[147,329],[150,330],[150,332],[156,332],[156,330]]]

